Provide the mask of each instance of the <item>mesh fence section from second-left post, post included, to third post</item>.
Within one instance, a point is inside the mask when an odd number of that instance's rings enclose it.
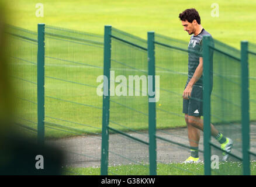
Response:
[[[105,26],[102,175],[149,174],[147,68],[147,41]]]

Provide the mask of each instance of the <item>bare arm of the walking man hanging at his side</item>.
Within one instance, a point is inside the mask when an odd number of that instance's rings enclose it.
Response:
[[[203,57],[200,57],[198,67],[196,68],[196,71],[193,74],[193,77],[191,78],[188,85],[186,86],[186,89],[183,92],[182,97],[184,99],[189,99],[189,97],[191,97],[193,85],[200,79],[202,74],[203,74]]]

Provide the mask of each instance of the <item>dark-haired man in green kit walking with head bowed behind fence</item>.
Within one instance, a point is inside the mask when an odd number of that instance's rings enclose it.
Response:
[[[200,16],[196,9],[186,9],[179,14],[184,30],[188,32],[191,39],[188,44],[188,80],[183,92],[183,113],[188,127],[188,138],[191,147],[191,156],[185,163],[199,162],[198,144],[200,140],[200,130],[203,131],[203,57],[202,39],[208,34],[200,24]],[[231,152],[233,141],[224,137],[222,133],[210,124],[211,134],[221,144],[221,148],[228,153]],[[223,161],[229,158],[229,154],[223,152]]]

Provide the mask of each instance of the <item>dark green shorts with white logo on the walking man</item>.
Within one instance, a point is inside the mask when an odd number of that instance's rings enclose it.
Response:
[[[190,99],[183,99],[183,113],[189,116],[203,116],[203,88],[193,86]]]

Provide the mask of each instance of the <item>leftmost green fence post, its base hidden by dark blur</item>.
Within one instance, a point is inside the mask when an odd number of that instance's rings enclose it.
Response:
[[[37,142],[44,144],[44,23],[37,25]]]

